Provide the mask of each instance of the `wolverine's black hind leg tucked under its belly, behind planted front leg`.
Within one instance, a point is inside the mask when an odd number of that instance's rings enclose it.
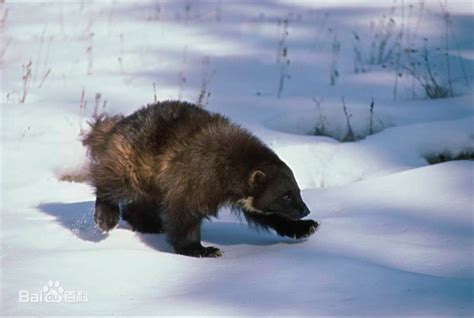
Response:
[[[133,231],[141,233],[161,233],[163,226],[160,220],[159,204],[136,201],[122,206],[122,219]]]

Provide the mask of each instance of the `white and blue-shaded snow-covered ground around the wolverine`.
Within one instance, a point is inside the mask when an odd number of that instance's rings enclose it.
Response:
[[[427,160],[474,153],[470,1],[0,6],[2,316],[474,315],[474,164]],[[369,63],[383,39],[391,57]],[[406,69],[427,78],[425,44],[447,98]],[[58,180],[84,164],[95,104],[129,114],[203,88],[293,169],[314,236],[223,210],[202,236],[225,255],[179,256],[125,223],[101,233],[91,187]],[[339,141],[343,99],[356,142]]]

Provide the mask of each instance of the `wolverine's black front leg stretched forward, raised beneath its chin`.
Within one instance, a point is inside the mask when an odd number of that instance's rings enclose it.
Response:
[[[278,235],[288,236],[294,239],[308,237],[318,228],[319,224],[313,220],[290,220],[276,214],[262,214],[244,211],[245,217],[250,223],[263,228],[273,228]]]

